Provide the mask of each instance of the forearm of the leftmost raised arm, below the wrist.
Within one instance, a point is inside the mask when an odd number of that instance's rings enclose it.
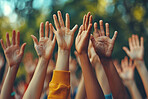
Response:
[[[17,70],[18,66],[12,66],[8,68],[8,72],[1,90],[1,99],[9,99],[11,97],[11,92],[13,89],[13,84],[17,74]]]

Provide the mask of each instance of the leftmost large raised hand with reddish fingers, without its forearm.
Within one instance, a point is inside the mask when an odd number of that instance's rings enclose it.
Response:
[[[13,31],[12,34],[12,44],[9,40],[9,34],[6,34],[6,45],[4,45],[3,40],[1,40],[1,45],[5,53],[6,60],[8,62],[8,65],[10,67],[12,66],[18,66],[22,60],[22,57],[24,55],[24,49],[26,46],[26,43],[24,43],[21,47],[20,45],[20,32]]]

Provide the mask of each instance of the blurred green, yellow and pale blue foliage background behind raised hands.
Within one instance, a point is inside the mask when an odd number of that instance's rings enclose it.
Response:
[[[128,46],[128,38],[132,34],[144,37],[145,62],[148,61],[148,1],[147,0],[0,0],[0,38],[6,40],[6,32],[11,35],[12,30],[20,31],[21,44],[27,43],[25,52],[31,51],[37,57],[31,34],[38,37],[40,22],[49,21],[53,24],[52,15],[58,10],[69,13],[71,28],[82,24],[82,18],[88,11],[93,15],[93,22],[102,19],[110,24],[110,33],[118,31],[113,58],[119,61],[126,55],[122,50]],[[93,29],[92,29],[93,32]],[[75,33],[75,36],[77,32]],[[73,44],[71,55],[74,56]],[[57,46],[54,53],[57,51]],[[3,53],[0,47],[0,53]],[[22,64],[23,65],[23,64]],[[20,67],[17,78],[25,75],[23,66]],[[141,79],[135,72],[135,80],[143,97],[145,92]]]

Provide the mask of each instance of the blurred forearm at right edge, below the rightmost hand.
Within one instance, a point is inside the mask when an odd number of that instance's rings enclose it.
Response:
[[[148,97],[148,71],[143,60],[135,60],[136,68],[142,79],[146,95]]]

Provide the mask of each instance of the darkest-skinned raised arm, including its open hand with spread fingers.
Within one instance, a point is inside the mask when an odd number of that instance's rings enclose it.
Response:
[[[106,35],[103,28],[103,21],[100,20],[100,33],[94,38],[91,35],[91,41],[97,55],[100,57],[100,61],[105,70],[108,82],[115,99],[129,98],[125,87],[113,65],[111,54],[113,51],[115,39],[117,37],[117,31],[114,33],[112,39],[109,38],[109,24],[106,23]]]

